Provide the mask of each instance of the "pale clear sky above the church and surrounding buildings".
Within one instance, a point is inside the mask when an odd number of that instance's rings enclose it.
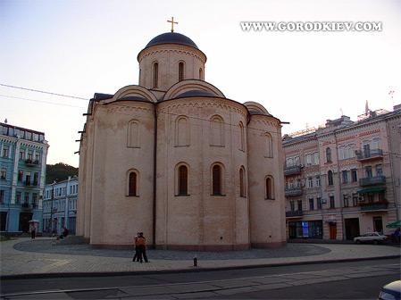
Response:
[[[78,167],[88,99],[137,85],[138,53],[171,17],[206,54],[205,80],[289,122],[282,134],[356,121],[366,101],[372,111],[401,104],[400,0],[0,0],[0,122],[45,132],[47,163]],[[381,30],[246,31],[241,21]]]

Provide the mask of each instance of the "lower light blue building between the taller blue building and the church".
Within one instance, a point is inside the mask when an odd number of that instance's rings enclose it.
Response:
[[[46,185],[43,196],[43,232],[60,235],[65,226],[76,232],[78,177]]]

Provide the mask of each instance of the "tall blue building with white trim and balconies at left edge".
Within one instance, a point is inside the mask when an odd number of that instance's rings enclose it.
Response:
[[[29,221],[42,220],[48,144],[45,134],[0,123],[1,231],[29,231]],[[40,223],[39,223],[40,225]]]

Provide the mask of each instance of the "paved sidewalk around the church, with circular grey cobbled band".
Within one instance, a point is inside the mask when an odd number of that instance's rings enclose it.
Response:
[[[87,245],[51,246],[54,238],[20,237],[0,243],[1,279],[108,276],[174,271],[205,271],[400,257],[400,248],[385,245],[288,244],[281,249],[227,253],[149,250],[151,262],[132,262],[133,251],[95,250]],[[17,250],[21,249],[21,250]]]

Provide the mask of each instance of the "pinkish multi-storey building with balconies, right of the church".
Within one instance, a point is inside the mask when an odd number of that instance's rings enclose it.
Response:
[[[401,109],[283,137],[288,238],[391,235],[400,219]]]

